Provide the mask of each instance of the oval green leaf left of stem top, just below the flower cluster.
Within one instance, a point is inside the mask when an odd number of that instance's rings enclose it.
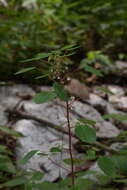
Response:
[[[36,104],[42,104],[42,103],[51,101],[54,98],[56,98],[56,94],[54,92],[44,91],[44,92],[40,92],[40,93],[36,94],[35,97],[33,98],[33,101]]]

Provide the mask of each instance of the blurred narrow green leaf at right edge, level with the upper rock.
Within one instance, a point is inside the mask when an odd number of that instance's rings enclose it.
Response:
[[[113,119],[116,119],[116,120],[119,120],[119,121],[126,121],[127,120],[127,115],[119,115],[119,114],[111,113],[111,114],[103,115],[103,118],[104,119],[113,118]]]

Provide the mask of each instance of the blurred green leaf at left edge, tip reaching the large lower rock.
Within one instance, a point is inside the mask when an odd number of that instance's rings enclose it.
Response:
[[[11,136],[17,137],[17,138],[18,137],[24,137],[24,135],[22,133],[17,132],[17,131],[15,131],[13,129],[10,129],[10,128],[6,127],[6,126],[0,126],[0,130],[7,133],[7,134],[9,134],[9,135],[11,135]]]

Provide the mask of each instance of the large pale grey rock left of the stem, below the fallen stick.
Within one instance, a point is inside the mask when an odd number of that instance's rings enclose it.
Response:
[[[66,135],[28,120],[18,121],[15,129],[25,135],[24,138],[20,138],[17,141],[15,149],[17,161],[31,150],[39,150],[42,153],[49,154],[48,156],[35,155],[22,167],[23,169],[29,170],[32,168],[44,172],[43,168],[45,168],[47,173],[43,180],[48,181],[55,181],[59,177],[65,178],[68,175],[69,166],[62,161],[69,157],[68,151],[63,150],[62,153],[50,153],[50,149],[53,146],[64,145],[65,149],[68,148],[68,137]],[[62,165],[67,170],[58,167],[58,165]]]

